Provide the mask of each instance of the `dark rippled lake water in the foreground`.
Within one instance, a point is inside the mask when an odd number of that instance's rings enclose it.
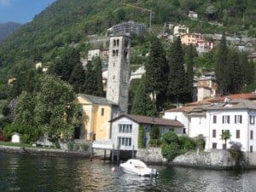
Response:
[[[0,192],[175,191],[255,192],[256,171],[231,172],[153,166],[158,178],[137,177],[103,160],[0,152]]]

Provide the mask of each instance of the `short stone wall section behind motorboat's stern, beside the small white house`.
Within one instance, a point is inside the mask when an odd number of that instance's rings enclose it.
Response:
[[[149,164],[163,164],[166,161],[161,154],[161,148],[138,148],[136,157]]]

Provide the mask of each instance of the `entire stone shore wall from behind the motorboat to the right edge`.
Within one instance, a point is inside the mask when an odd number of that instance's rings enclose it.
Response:
[[[211,152],[188,152],[166,162],[160,148],[140,148],[137,159],[151,164],[167,164],[168,166],[189,166],[209,169],[230,169],[236,165],[228,150],[212,150]],[[256,168],[256,153],[245,154],[244,168]]]

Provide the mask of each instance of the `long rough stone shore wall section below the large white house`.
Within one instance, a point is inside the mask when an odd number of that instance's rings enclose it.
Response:
[[[229,169],[236,165],[227,150],[212,150],[211,152],[188,152],[177,156],[171,165],[192,166],[212,169]]]

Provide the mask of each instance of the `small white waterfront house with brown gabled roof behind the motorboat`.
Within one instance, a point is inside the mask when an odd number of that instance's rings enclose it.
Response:
[[[177,135],[183,134],[183,124],[177,120],[147,117],[142,115],[123,114],[112,119],[112,143],[114,148],[120,150],[137,150],[139,126],[143,127],[143,147],[148,147],[149,132],[152,125],[160,128],[160,137],[167,131],[175,131]]]

